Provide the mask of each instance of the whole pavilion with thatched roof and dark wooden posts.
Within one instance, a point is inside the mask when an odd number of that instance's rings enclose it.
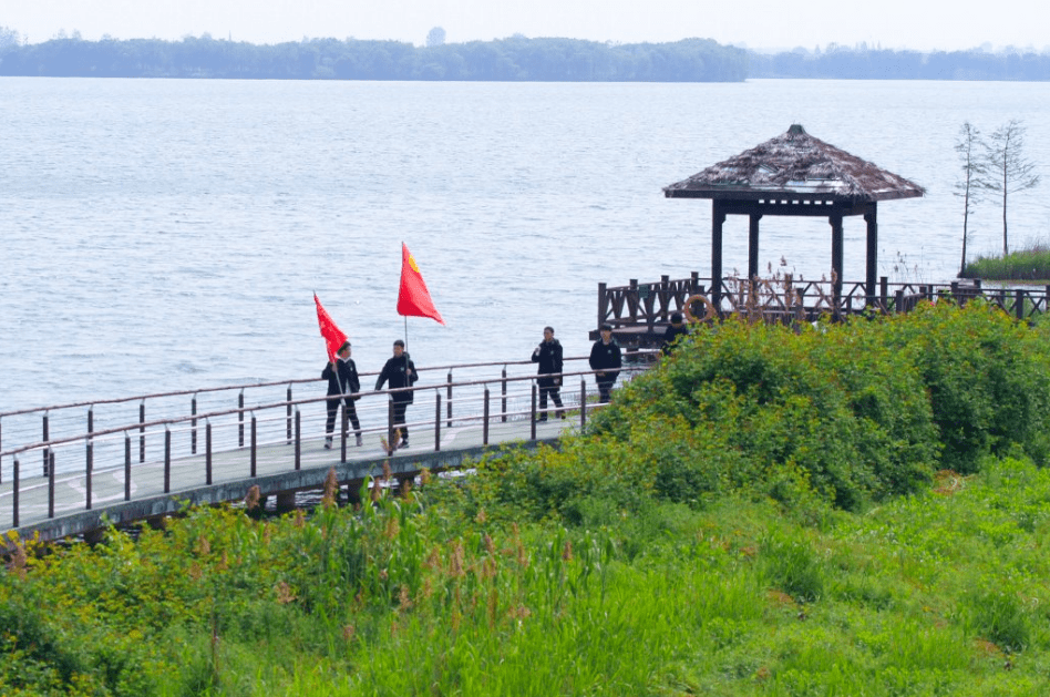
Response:
[[[842,293],[842,219],[863,215],[867,223],[866,295],[871,304],[875,296],[878,202],[924,194],[922,186],[828,145],[797,124],[663,188],[668,198],[711,199],[711,299],[716,307],[721,300],[722,224],[727,215],[751,218],[749,278],[759,273],[759,221],[763,215],[827,217],[836,298]]]

